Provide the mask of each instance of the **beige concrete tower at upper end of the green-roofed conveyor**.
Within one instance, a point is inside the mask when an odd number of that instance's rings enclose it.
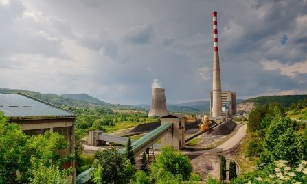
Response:
[[[185,146],[185,118],[161,118],[161,124],[172,122],[172,131],[162,137],[162,146],[170,145],[175,150]]]

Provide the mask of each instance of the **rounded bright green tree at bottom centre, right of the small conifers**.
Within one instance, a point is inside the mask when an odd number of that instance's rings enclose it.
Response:
[[[192,172],[190,160],[180,151],[175,151],[171,146],[163,146],[156,161],[151,165],[151,178],[173,178],[188,180]]]

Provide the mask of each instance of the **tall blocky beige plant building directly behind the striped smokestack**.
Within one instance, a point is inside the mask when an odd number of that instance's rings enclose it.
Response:
[[[212,92],[210,92],[210,115],[212,115]],[[237,103],[236,103],[236,92],[231,91],[222,91],[221,92],[221,101],[222,101],[222,111],[224,113],[227,101],[230,101],[228,115],[234,115],[237,112]]]

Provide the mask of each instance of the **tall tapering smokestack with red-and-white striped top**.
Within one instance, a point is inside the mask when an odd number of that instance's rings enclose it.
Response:
[[[218,59],[218,18],[217,12],[213,16],[213,85],[212,85],[212,118],[218,118],[222,113],[220,61]]]

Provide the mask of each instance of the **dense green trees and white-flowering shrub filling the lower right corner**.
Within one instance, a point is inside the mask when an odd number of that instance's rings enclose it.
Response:
[[[291,111],[305,108],[305,101],[291,105]],[[282,105],[267,104],[251,111],[246,142],[245,153],[257,161],[257,169],[231,183],[307,182],[306,124],[286,117]]]

